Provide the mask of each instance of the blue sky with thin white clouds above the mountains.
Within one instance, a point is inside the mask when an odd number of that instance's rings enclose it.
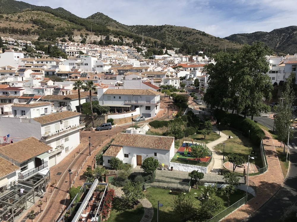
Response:
[[[23,0],[62,7],[86,18],[96,12],[125,25],[176,25],[224,38],[296,24],[296,0]]]

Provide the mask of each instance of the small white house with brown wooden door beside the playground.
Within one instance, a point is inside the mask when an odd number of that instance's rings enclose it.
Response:
[[[154,157],[159,163],[170,165],[174,156],[174,137],[120,133],[103,154],[103,166],[110,167],[111,157],[117,157],[133,167],[144,159]]]

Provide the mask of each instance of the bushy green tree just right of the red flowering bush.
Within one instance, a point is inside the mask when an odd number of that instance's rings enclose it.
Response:
[[[122,197],[128,205],[132,206],[137,200],[142,200],[145,198],[139,183],[128,182],[123,186],[122,190]]]

